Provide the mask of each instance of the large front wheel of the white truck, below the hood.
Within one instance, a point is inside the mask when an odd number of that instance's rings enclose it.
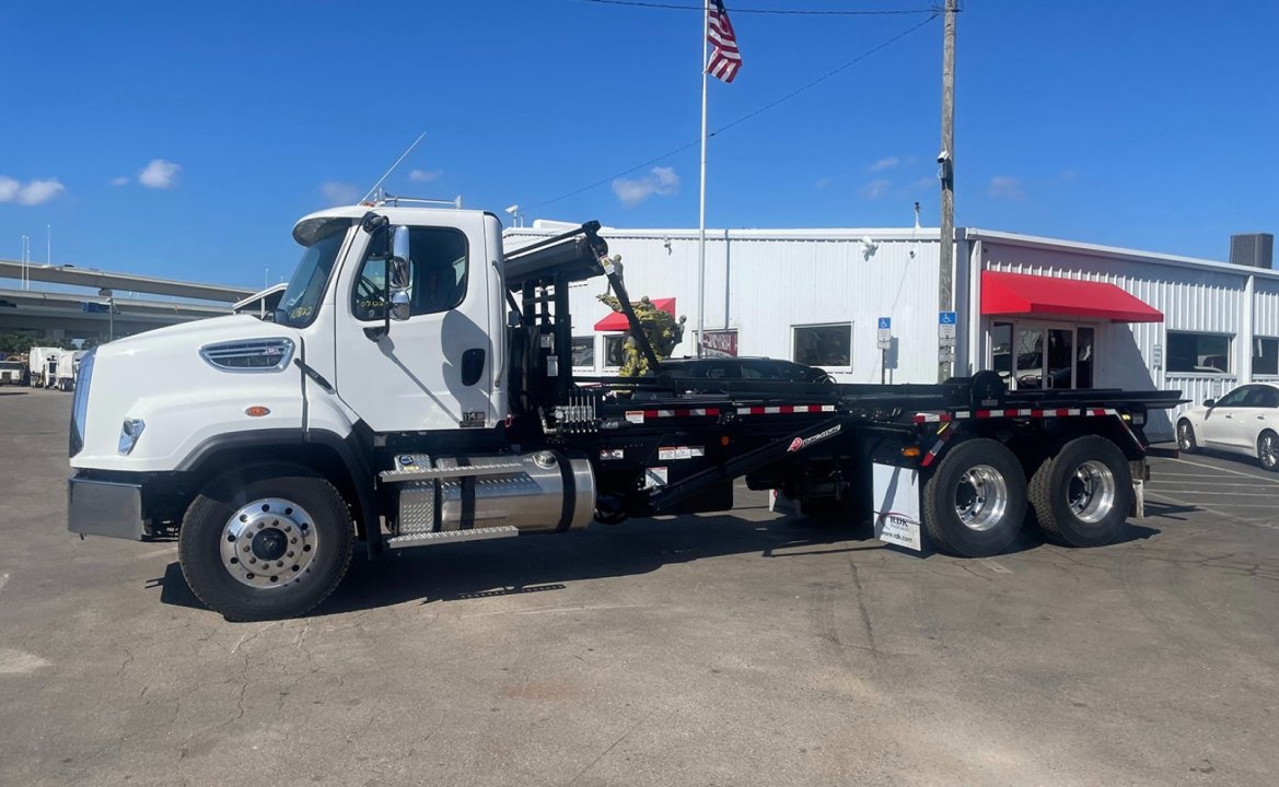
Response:
[[[229,621],[297,617],[333,593],[354,548],[350,514],[298,465],[253,465],[206,485],[187,508],[178,558],[200,600]]]

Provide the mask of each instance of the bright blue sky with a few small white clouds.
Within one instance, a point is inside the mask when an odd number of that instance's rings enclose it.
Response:
[[[696,0],[674,0],[691,1]],[[726,0],[725,125],[931,0]],[[968,0],[959,225],[1221,259],[1274,231],[1279,4]],[[582,0],[0,6],[0,257],[256,286],[310,211],[391,192],[530,218],[697,225],[701,17]],[[936,226],[936,19],[711,142],[709,226]],[[654,169],[659,167],[659,169]],[[417,172],[416,179],[413,178]],[[602,185],[547,203],[596,181]],[[501,215],[501,213],[500,213]],[[505,215],[503,215],[505,216]]]

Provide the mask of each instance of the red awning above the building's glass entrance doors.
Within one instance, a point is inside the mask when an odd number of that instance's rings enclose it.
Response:
[[[982,314],[1059,314],[1111,322],[1164,322],[1164,314],[1113,284],[981,272]]]

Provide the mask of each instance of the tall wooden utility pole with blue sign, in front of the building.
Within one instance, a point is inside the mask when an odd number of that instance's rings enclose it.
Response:
[[[955,235],[955,13],[959,0],[945,0],[945,33],[941,46],[941,152],[938,178],[941,180],[941,258],[938,271],[938,382],[945,382],[954,367],[954,331],[949,337],[940,313],[954,310],[954,235]],[[967,316],[969,331],[976,330],[973,314]],[[949,344],[946,344],[949,342]]]

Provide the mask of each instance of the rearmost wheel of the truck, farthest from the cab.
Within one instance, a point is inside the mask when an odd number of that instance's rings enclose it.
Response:
[[[1132,511],[1132,473],[1119,447],[1095,434],[1062,446],[1030,483],[1040,530],[1067,547],[1109,544]]]

